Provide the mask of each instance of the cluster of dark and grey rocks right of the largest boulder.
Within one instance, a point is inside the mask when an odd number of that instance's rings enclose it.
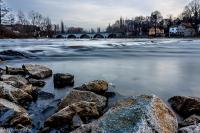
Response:
[[[172,108],[183,118],[179,133],[200,132],[200,98],[175,96],[169,99]]]

